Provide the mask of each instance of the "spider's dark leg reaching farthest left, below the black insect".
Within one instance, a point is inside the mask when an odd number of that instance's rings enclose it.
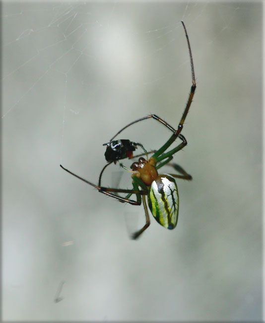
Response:
[[[60,165],[64,170],[66,170],[69,174],[81,179],[83,182],[95,187],[99,192],[104,193],[108,196],[114,197],[120,201],[123,202],[127,202],[129,204],[132,205],[140,205],[141,204],[141,195],[147,195],[148,191],[147,190],[135,190],[135,189],[120,189],[120,188],[109,188],[109,187],[102,187],[102,186],[97,186],[91,182],[89,182],[88,180],[84,179],[83,177],[80,177],[78,175],[76,175],[75,173],[71,172],[70,170],[66,169],[65,167],[63,167],[62,165]],[[123,198],[121,196],[115,195],[111,192],[117,192],[117,193],[132,193],[136,195],[137,201],[135,200],[130,200],[127,198]]]

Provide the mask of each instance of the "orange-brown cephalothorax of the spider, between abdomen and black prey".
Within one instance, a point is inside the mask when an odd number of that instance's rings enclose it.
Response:
[[[131,168],[134,171],[137,171],[136,173],[133,173],[133,175],[140,178],[147,186],[150,186],[158,175],[153,159],[146,161],[144,158],[140,157],[138,162],[133,162]]]

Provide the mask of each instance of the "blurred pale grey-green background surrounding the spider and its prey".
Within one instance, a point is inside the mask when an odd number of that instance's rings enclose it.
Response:
[[[59,164],[97,183],[124,125],[155,113],[177,127],[191,87],[182,19],[198,87],[174,161],[193,181],[177,181],[175,230],[150,215],[132,241],[143,207]],[[259,2],[4,2],[3,319],[261,320],[261,84]],[[147,120],[120,138],[157,149],[169,135]]]

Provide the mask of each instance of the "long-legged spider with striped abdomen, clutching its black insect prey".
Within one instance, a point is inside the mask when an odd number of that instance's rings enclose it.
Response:
[[[137,239],[150,225],[150,218],[148,215],[148,208],[146,203],[146,195],[149,209],[155,218],[155,220],[167,229],[174,229],[177,225],[178,221],[178,211],[179,211],[179,195],[178,195],[178,187],[176,184],[175,178],[182,178],[191,180],[192,176],[189,175],[182,167],[178,164],[171,163],[170,161],[173,159],[173,155],[182,150],[187,145],[186,138],[181,134],[183,129],[183,124],[187,117],[188,111],[190,109],[195,89],[196,89],[196,81],[195,81],[195,73],[194,73],[194,65],[193,65],[193,57],[191,51],[191,45],[189,36],[186,30],[186,26],[183,21],[182,25],[184,28],[184,32],[186,35],[189,55],[190,55],[190,62],[191,62],[191,70],[192,70],[192,86],[189,94],[189,98],[184,109],[183,115],[179,122],[178,128],[175,130],[171,127],[166,121],[159,118],[155,114],[151,114],[145,116],[143,118],[137,119],[125,127],[123,127],[120,131],[118,131],[115,136],[112,137],[109,143],[104,144],[107,146],[105,152],[105,158],[108,163],[103,167],[99,175],[98,185],[95,185],[88,180],[84,179],[76,175],[75,173],[71,172],[70,170],[66,169],[62,165],[60,165],[64,170],[66,170],[71,175],[81,179],[85,183],[95,187],[99,192],[104,193],[108,196],[114,197],[121,202],[127,202],[132,205],[141,205],[143,203],[144,211],[145,211],[145,218],[146,222],[145,225],[138,231],[136,231],[132,235],[132,239]],[[146,119],[154,119],[167,127],[170,131],[172,131],[172,135],[168,139],[168,141],[158,150],[152,151],[152,156],[148,159],[148,153],[143,148],[140,143],[131,142],[128,139],[122,140],[114,140],[122,131],[126,128],[132,126],[134,123],[137,123],[142,120]],[[166,150],[175,142],[175,140],[179,138],[182,142],[175,148],[166,152]],[[104,170],[107,166],[111,163],[116,163],[117,161],[123,159],[132,159],[133,158],[133,151],[137,148],[137,146],[141,147],[144,151],[144,154],[135,156],[139,157],[138,161],[133,162],[131,165],[131,170],[125,167],[122,163],[121,166],[126,170],[132,172],[132,179],[133,179],[133,189],[121,189],[121,188],[109,188],[101,186],[101,178]],[[146,155],[146,159],[142,157],[142,155]],[[134,158],[135,158],[134,157]],[[158,169],[164,165],[169,165],[174,167],[180,174],[159,174]],[[125,197],[118,195],[118,193],[127,193]],[[130,199],[130,197],[135,194],[136,200]]]

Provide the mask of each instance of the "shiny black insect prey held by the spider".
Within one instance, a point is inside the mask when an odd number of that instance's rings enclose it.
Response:
[[[107,146],[105,152],[106,161],[119,161],[125,158],[132,158],[137,144],[128,139],[113,140],[103,146]]]

